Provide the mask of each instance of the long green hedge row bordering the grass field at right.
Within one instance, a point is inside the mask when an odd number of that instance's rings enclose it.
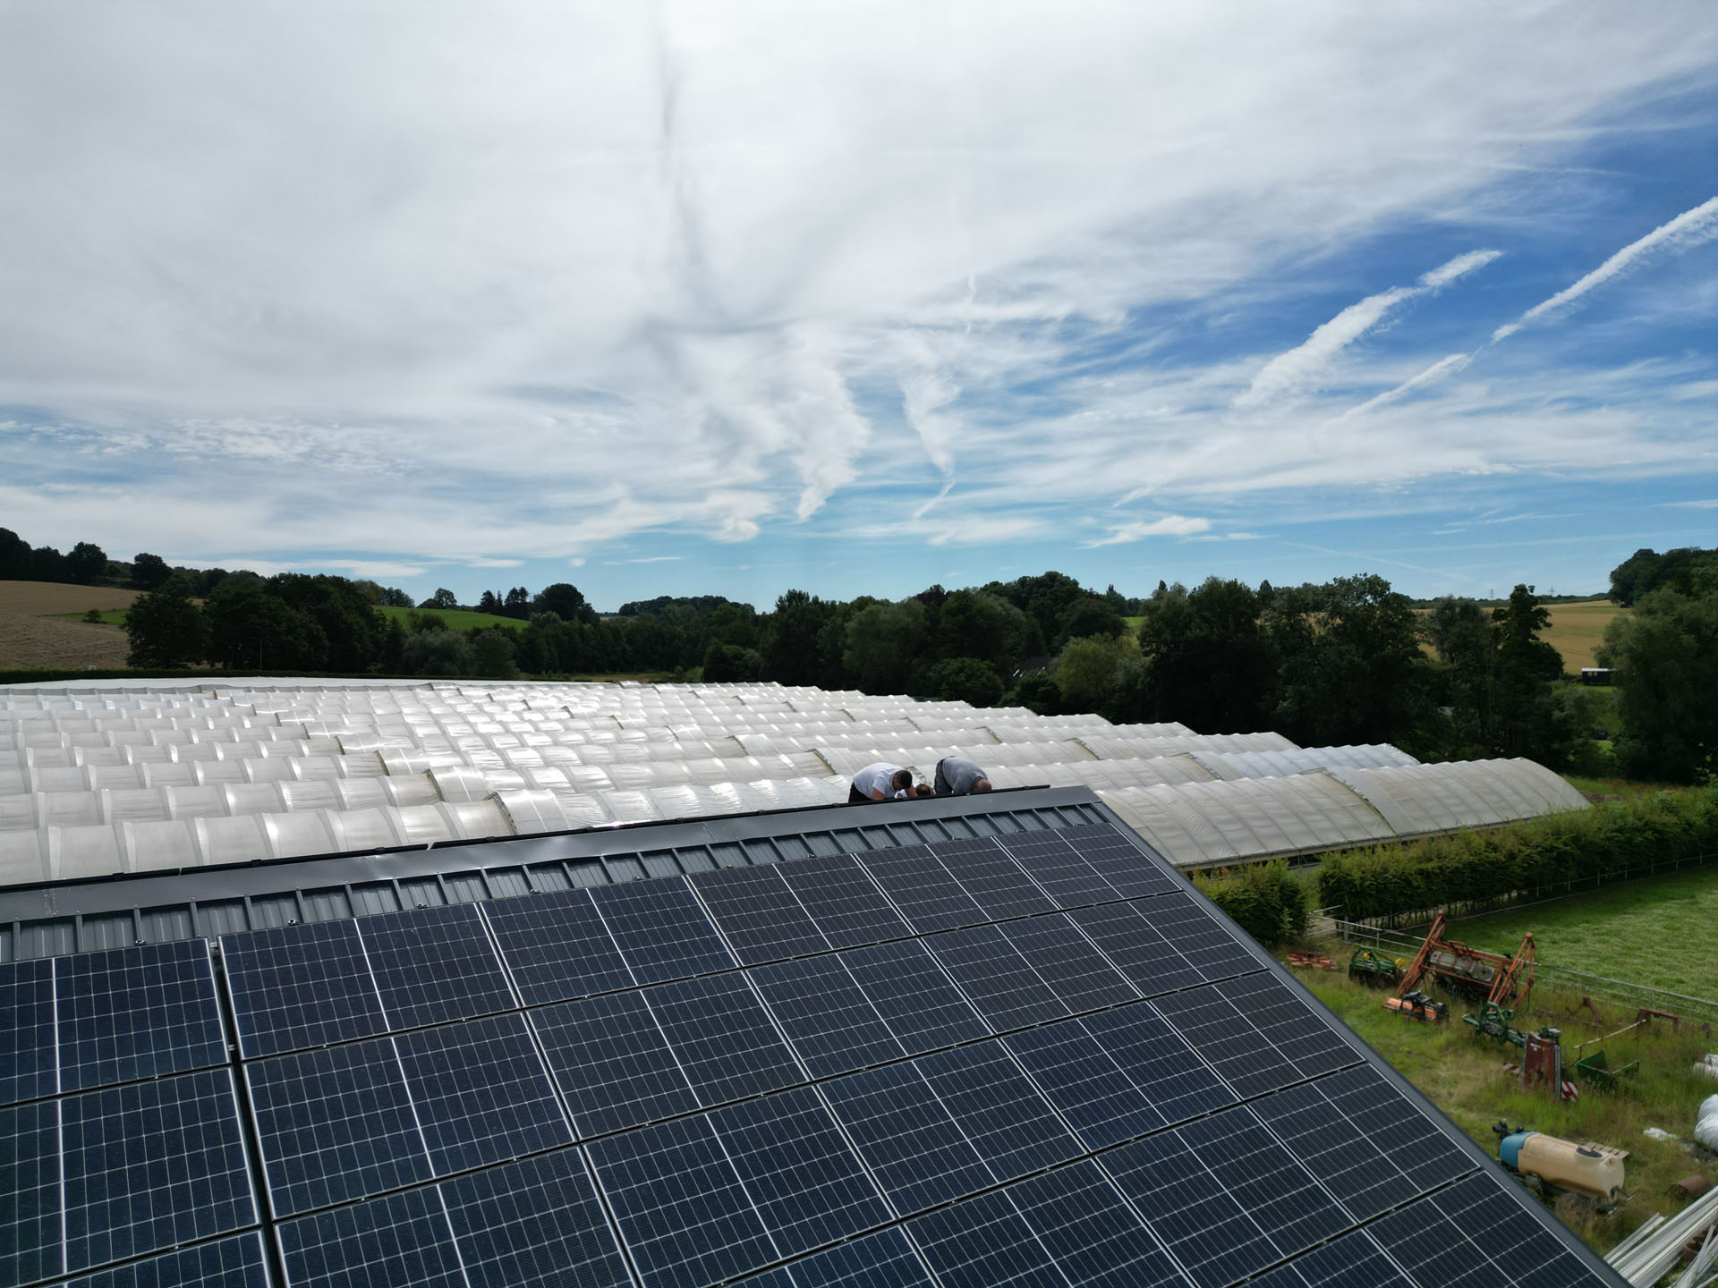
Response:
[[[1711,788],[1333,854],[1318,871],[1318,903],[1362,920],[1605,881],[1703,855],[1718,857],[1718,790]]]

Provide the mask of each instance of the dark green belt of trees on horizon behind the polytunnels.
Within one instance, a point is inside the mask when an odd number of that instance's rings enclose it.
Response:
[[[1450,596],[1416,611],[1378,575],[1285,587],[1160,580],[1127,598],[1045,572],[895,601],[789,591],[766,613],[723,596],[663,596],[605,618],[557,582],[486,591],[471,608],[517,625],[459,630],[442,613],[466,606],[445,589],[412,605],[368,580],[199,572],[153,555],[125,565],[89,543],[33,550],[5,529],[0,579],[146,591],[127,622],[139,668],[777,680],[1201,733],[1278,730],[1302,745],[1390,742],[1423,759],[1529,756],[1665,781],[1718,769],[1718,706],[1706,701],[1718,692],[1718,551],[1703,550],[1641,550],[1611,574],[1611,598],[1634,608],[1601,651],[1620,671],[1615,747],[1593,697],[1563,682],[1531,586],[1490,608]]]

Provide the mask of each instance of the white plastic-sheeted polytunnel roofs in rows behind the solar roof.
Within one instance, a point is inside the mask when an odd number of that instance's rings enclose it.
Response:
[[[0,689],[0,884],[794,809],[948,754],[1093,787],[1187,867],[1586,804],[1526,761],[770,683],[108,680]]]

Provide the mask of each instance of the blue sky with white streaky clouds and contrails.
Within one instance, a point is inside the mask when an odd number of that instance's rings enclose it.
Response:
[[[5,7],[0,526],[1599,591],[1718,544],[1715,72],[1704,3]]]

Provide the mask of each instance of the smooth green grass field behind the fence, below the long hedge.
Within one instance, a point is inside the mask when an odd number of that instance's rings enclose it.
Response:
[[[1539,957],[1551,965],[1718,999],[1715,926],[1718,866],[1709,866],[1462,917],[1450,936],[1508,953],[1532,931]]]

